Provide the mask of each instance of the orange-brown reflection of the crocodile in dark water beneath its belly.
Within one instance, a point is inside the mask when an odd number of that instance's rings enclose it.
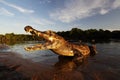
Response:
[[[59,56],[58,59],[59,61],[54,65],[58,72],[73,71],[83,63],[82,60],[74,60],[73,57]]]

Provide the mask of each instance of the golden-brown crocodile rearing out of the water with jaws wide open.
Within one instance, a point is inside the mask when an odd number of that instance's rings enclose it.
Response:
[[[91,54],[96,54],[95,45],[86,45],[86,44],[74,44],[65,40],[62,36],[59,36],[54,31],[38,31],[31,26],[25,26],[24,30],[36,35],[45,40],[45,43],[35,44],[34,46],[25,47],[27,51],[34,50],[51,50],[54,53],[61,56],[81,56],[86,57]]]

